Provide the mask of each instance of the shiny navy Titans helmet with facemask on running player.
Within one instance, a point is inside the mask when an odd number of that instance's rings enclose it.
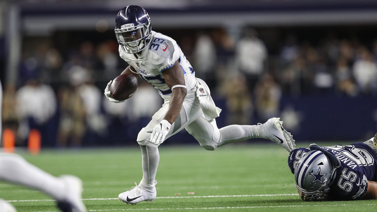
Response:
[[[147,11],[136,5],[121,9],[115,18],[115,35],[124,52],[133,54],[145,49],[152,37]]]

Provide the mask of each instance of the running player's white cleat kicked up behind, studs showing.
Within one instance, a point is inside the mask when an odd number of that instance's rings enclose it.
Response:
[[[264,123],[267,128],[268,139],[282,145],[288,152],[296,148],[293,136],[283,128],[280,118],[270,118]],[[263,124],[262,124],[263,125]]]

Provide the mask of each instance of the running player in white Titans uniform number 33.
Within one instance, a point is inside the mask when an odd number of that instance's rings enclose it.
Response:
[[[265,138],[294,149],[294,140],[282,127],[280,118],[270,118],[259,125],[230,125],[219,129],[215,118],[221,109],[215,106],[207,84],[195,77],[190,62],[173,38],[152,31],[151,19],[145,9],[129,5],[115,18],[115,35],[119,55],[129,66],[121,74],[133,74],[149,82],[164,98],[164,104],[138,134],[141,147],[143,178],[139,185],[119,194],[125,203],[136,204],[156,198],[155,180],[159,163],[158,146],[170,136],[186,129],[207,150],[248,140]],[[110,81],[104,91],[112,98]]]

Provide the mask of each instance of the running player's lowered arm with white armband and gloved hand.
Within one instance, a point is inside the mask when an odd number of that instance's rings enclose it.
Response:
[[[185,79],[178,61],[176,61],[171,68],[162,72],[162,74],[164,75],[167,86],[172,89],[172,96],[170,97],[169,109],[166,112],[164,120],[157,124],[153,130],[147,131],[152,132],[150,142],[156,145],[164,142],[170,127],[182,109],[183,100],[187,94]]]

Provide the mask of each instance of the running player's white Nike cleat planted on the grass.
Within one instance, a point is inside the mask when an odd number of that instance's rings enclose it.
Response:
[[[155,181],[155,186],[148,188],[138,185],[135,182],[136,186],[133,186],[133,189],[127,190],[126,192],[120,193],[118,195],[118,198],[127,204],[136,204],[141,201],[151,201],[153,203],[153,200],[155,200],[157,192],[156,192],[156,184],[157,181]]]

